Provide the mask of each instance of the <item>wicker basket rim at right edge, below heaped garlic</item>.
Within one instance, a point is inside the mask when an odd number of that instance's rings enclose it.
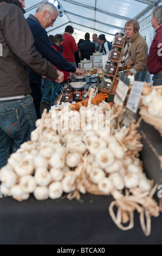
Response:
[[[154,117],[154,115],[149,114],[146,106],[142,106],[140,108],[139,114],[147,124],[154,126],[155,129],[159,131],[162,137],[162,117]]]

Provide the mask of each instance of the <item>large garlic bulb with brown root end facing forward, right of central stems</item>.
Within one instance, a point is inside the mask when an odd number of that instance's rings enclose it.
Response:
[[[98,155],[96,155],[96,162],[98,162],[103,169],[112,166],[114,161],[114,155],[108,148],[101,149]]]

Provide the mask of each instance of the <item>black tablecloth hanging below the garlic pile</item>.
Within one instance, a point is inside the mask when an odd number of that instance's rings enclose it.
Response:
[[[120,230],[109,215],[111,196],[82,194],[81,202],[67,198],[17,202],[0,199],[1,245],[159,245],[162,214],[151,218],[151,235],[145,236],[134,212],[134,228]]]

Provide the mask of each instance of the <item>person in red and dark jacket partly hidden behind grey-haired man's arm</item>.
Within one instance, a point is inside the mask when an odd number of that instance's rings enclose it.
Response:
[[[62,47],[62,42],[64,41],[63,35],[62,34],[49,35],[48,38],[53,48],[63,55],[63,47]],[[64,81],[62,83],[57,83],[54,80],[50,80],[52,81],[52,86],[53,86],[53,90],[50,96],[51,106],[54,105],[54,101],[56,100],[57,96],[61,93],[61,88],[63,88],[64,84],[67,83],[67,77],[70,76],[70,72],[68,71],[62,71],[62,72],[64,74]]]

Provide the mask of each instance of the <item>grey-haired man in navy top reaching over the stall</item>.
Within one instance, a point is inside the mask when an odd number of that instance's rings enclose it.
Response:
[[[59,52],[57,52],[50,44],[46,28],[53,27],[57,16],[59,15],[58,9],[55,5],[49,2],[42,2],[37,5],[36,14],[29,15],[27,22],[33,33],[35,39],[35,47],[41,55],[49,60],[57,68],[73,72],[75,74],[83,74],[80,69],[75,68],[72,64],[68,63]],[[37,118],[41,118],[40,102],[41,94],[41,76],[33,70],[29,70],[30,87],[34,99],[34,105],[37,113]]]

